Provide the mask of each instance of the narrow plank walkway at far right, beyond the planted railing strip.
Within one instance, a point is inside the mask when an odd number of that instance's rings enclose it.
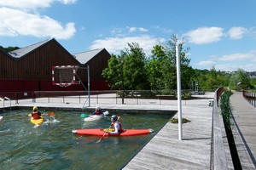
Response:
[[[233,135],[242,169],[256,169],[256,108],[250,105],[240,92],[230,97],[235,128]]]

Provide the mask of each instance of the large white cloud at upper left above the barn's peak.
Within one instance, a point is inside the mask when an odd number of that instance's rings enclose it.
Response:
[[[0,20],[0,36],[30,35],[68,39],[76,31],[74,23],[67,23],[63,27],[48,16],[29,14],[12,8],[0,8]]]

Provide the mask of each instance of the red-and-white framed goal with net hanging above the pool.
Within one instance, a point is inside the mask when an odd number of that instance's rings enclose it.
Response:
[[[56,65],[52,66],[52,83],[60,87],[68,87],[73,84],[79,84],[76,81],[76,72],[79,69],[78,65]]]

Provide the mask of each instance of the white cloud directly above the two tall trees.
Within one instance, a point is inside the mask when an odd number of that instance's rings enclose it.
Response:
[[[151,54],[153,46],[164,41],[164,38],[151,37],[148,35],[138,37],[109,37],[94,41],[90,49],[106,48],[110,54],[119,54],[120,50],[128,48],[128,42],[137,42],[140,47],[143,48],[145,54]]]

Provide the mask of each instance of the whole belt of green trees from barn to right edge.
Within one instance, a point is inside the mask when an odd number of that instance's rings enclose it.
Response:
[[[168,92],[177,88],[176,64],[177,36],[172,35],[166,44],[157,44],[146,57],[143,48],[137,42],[128,43],[119,55],[112,54],[108,68],[102,71],[102,76],[111,89],[125,90],[161,90]],[[235,74],[216,71],[193,69],[189,64],[189,48],[178,45],[180,52],[181,82],[183,90],[216,90],[218,87],[235,87],[237,82],[243,82],[242,88],[252,88],[251,79],[242,70]],[[255,85],[255,84],[254,84]]]

